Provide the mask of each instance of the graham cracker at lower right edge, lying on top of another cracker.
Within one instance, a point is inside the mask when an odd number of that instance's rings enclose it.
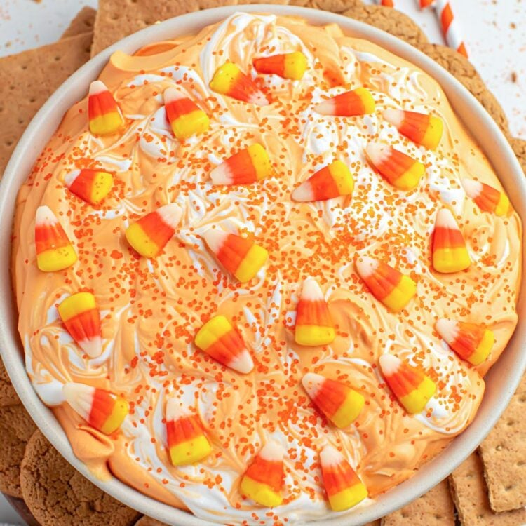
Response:
[[[480,445],[493,511],[526,506],[526,377],[504,414]]]

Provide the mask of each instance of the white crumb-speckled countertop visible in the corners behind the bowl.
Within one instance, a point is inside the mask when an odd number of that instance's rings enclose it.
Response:
[[[365,0],[372,4],[372,0]],[[430,41],[444,43],[431,9],[417,0],[396,6],[424,29]],[[450,0],[471,61],[504,107],[511,132],[526,139],[526,1]],[[0,0],[0,56],[51,43],[60,37],[81,6],[97,0]],[[0,522],[23,525],[0,495]]]

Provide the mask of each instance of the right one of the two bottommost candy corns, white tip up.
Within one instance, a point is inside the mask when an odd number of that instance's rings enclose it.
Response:
[[[345,457],[326,445],[320,453],[321,475],[332,511],[344,511],[367,497],[367,488]]]

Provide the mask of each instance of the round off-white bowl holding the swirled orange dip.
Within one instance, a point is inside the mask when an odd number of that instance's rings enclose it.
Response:
[[[6,168],[4,179],[0,183],[0,214],[1,217],[4,217],[4,221],[0,225],[0,238],[5,241],[4,250],[1,250],[0,253],[0,297],[4,298],[4,301],[0,303],[0,351],[18,396],[20,396],[34,422],[74,468],[124,504],[158,520],[177,526],[205,526],[212,523],[166,504],[161,504],[133,490],[119,480],[114,479],[108,482],[97,480],[88,471],[88,468],[74,456],[62,427],[58,424],[53,413],[48,410],[48,407],[43,405],[39,397],[36,396],[25,372],[22,346],[16,329],[17,313],[11,287],[9,270],[11,247],[8,240],[11,238],[11,218],[15,213],[15,198],[20,185],[26,180],[36,157],[55,132],[66,110],[86,95],[90,81],[97,77],[102,67],[107,63],[109,56],[116,50],[133,53],[147,43],[173,38],[180,34],[197,32],[205,25],[218,22],[236,11],[295,15],[316,25],[334,22],[339,24],[346,33],[375,42],[424,69],[441,84],[452,107],[493,164],[504,188],[511,197],[513,207],[518,210],[523,221],[526,217],[524,215],[526,210],[526,182],[522,169],[501,130],[475,97],[445,69],[417,49],[390,34],[351,18],[325,11],[274,5],[226,6],[199,11],[167,20],[128,36],[102,51],[69,77],[43,105],[27,127]],[[518,327],[506,351],[486,377],[486,393],[473,424],[455,438],[438,457],[422,466],[410,480],[379,496],[372,506],[360,507],[350,515],[346,514],[342,517],[335,514],[334,518],[312,522],[311,524],[358,526],[391,513],[438,484],[476,449],[504,411],[526,367],[526,353],[522,351],[526,348],[526,323],[522,318],[522,312],[525,308],[525,288],[526,280],[523,280],[518,306]]]

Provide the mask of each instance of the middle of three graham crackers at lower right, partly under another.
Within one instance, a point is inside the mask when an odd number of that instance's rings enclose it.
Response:
[[[461,526],[520,526],[526,509],[494,513],[487,498],[483,463],[471,454],[450,476],[450,488]]]

